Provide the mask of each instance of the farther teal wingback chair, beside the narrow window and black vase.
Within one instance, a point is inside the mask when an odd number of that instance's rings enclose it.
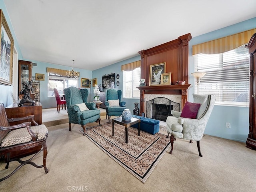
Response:
[[[126,109],[125,101],[121,101],[122,91],[115,89],[108,89],[106,91],[106,115],[108,116],[108,123],[110,123],[111,116],[120,116]],[[109,102],[110,100],[110,102]],[[112,101],[118,100],[117,104],[111,105]]]

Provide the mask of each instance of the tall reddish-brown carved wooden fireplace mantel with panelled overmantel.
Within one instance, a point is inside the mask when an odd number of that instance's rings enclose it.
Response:
[[[156,47],[141,50],[141,78],[145,79],[147,86],[137,87],[140,90],[140,113],[144,112],[144,94],[181,94],[182,108],[187,101],[188,84],[188,61],[190,33],[180,36],[176,40],[158,45]],[[184,85],[148,86],[150,65],[166,62],[166,73],[171,72],[171,82],[184,80]]]

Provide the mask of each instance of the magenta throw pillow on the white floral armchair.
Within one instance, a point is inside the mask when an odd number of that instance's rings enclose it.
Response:
[[[195,119],[199,108],[200,103],[190,103],[187,101],[182,109],[180,117]]]

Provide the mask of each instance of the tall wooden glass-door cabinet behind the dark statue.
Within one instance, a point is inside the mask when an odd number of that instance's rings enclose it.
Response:
[[[32,62],[18,60],[18,92],[22,90],[22,84],[24,81],[28,82],[32,76]]]

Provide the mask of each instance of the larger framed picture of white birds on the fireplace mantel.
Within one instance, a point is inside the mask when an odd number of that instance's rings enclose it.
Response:
[[[160,85],[161,75],[165,73],[166,62],[150,65],[149,86]]]

